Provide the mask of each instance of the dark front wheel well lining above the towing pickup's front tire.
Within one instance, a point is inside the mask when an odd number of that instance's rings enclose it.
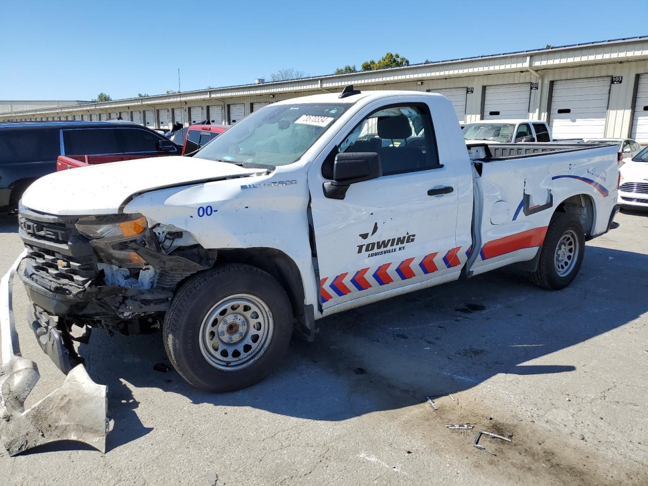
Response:
[[[270,273],[283,286],[294,319],[295,330],[311,341],[314,337],[314,311],[305,304],[304,284],[297,264],[281,250],[275,248],[244,248],[218,250],[218,263],[244,263]]]

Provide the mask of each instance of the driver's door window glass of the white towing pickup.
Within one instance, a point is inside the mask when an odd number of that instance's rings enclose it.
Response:
[[[419,106],[371,113],[341,143],[338,152],[376,152],[384,176],[439,167],[430,115]],[[331,157],[325,166],[323,176],[332,178]]]

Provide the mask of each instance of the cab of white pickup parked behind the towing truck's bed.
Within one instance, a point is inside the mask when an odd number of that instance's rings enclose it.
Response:
[[[547,143],[553,141],[547,122],[540,120],[482,120],[461,130],[467,143]]]

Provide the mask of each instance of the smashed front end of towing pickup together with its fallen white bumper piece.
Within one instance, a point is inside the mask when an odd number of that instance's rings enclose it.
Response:
[[[0,438],[11,455],[65,439],[104,452],[106,386],[87,375],[74,341],[87,343],[93,327],[129,334],[155,326],[178,283],[209,268],[216,255],[189,233],[141,214],[54,216],[20,207],[19,234],[25,251],[0,283]],[[12,279],[19,267],[34,334],[67,375],[28,410],[25,400],[40,375],[17,341]],[[74,327],[85,332],[75,335]]]

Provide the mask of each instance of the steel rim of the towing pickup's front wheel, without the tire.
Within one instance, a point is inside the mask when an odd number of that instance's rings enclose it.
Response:
[[[259,360],[268,348],[274,321],[268,305],[250,294],[229,295],[205,314],[200,351],[213,367],[236,371]]]

